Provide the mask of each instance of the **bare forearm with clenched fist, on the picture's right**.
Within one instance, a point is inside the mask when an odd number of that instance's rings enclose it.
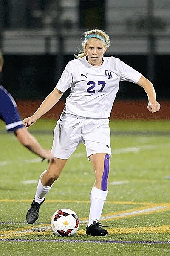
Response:
[[[143,87],[145,92],[147,93],[147,96],[148,96],[147,109],[152,113],[159,111],[159,109],[161,108],[161,105],[159,104],[159,102],[156,101],[156,93],[155,93],[153,84],[144,76],[141,76],[137,84]]]

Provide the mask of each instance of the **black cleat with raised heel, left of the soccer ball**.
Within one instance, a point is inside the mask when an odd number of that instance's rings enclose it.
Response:
[[[31,204],[30,208],[28,209],[28,212],[26,215],[26,220],[27,220],[28,224],[33,224],[35,221],[37,221],[40,206],[44,203],[44,201],[45,201],[45,198],[40,204],[35,202],[35,199],[32,201],[32,204]]]

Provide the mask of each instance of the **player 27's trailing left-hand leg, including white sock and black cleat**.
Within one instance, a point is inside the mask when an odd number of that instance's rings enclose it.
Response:
[[[48,170],[44,171],[40,176],[35,198],[26,215],[28,224],[33,224],[38,219],[39,209],[45,201],[45,195],[53,186],[54,181],[59,177],[66,162],[67,159],[56,158],[55,161],[50,162]]]

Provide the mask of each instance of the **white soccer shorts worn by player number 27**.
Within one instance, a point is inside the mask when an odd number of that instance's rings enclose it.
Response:
[[[109,119],[91,119],[62,113],[54,129],[52,154],[68,159],[83,142],[87,157],[96,153],[111,155]]]

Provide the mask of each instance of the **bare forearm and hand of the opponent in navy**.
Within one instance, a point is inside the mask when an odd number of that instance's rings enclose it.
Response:
[[[22,127],[14,131],[19,142],[28,148],[30,151],[34,152],[35,154],[39,155],[43,159],[54,160],[53,155],[49,149],[44,149],[38,143],[36,138],[29,133],[26,127]]]

